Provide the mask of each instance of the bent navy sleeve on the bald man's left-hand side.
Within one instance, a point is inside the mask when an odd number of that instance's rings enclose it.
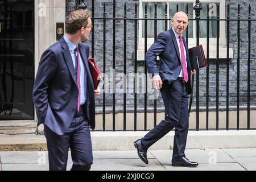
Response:
[[[160,53],[164,52],[164,49],[166,49],[166,38],[164,37],[164,34],[161,33],[158,35],[158,38],[155,40],[155,43],[152,44],[152,46],[148,49],[146,53],[146,64],[148,73],[151,73],[152,75],[158,74],[158,66],[156,65],[156,57],[160,55]]]

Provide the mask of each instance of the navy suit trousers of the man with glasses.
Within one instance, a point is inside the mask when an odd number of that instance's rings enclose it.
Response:
[[[47,139],[49,170],[65,171],[67,169],[68,151],[71,148],[73,166],[71,171],[89,171],[93,163],[90,130],[85,117],[73,118],[64,135],[57,135],[44,125]]]

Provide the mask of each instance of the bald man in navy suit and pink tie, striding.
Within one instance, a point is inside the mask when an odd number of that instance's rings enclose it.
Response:
[[[188,95],[191,94],[191,64],[188,46],[182,33],[188,26],[188,16],[180,11],[171,19],[172,28],[159,34],[155,43],[146,53],[148,72],[152,74],[155,89],[160,89],[166,118],[152,129],[144,138],[134,142],[138,156],[148,164],[147,149],[164,137],[175,127],[172,166],[196,167],[185,157],[188,135]],[[156,56],[160,57],[160,68],[156,65]]]

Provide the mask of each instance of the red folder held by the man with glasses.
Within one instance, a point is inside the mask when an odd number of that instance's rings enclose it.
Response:
[[[97,90],[98,84],[100,84],[101,82],[101,71],[100,71],[100,68],[98,68],[96,61],[93,58],[89,58],[88,62],[90,67],[90,74],[92,75],[92,78],[93,78],[94,89]]]

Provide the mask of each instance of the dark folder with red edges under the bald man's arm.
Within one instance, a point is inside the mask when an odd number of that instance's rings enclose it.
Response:
[[[200,69],[203,67],[208,67],[207,59],[205,59],[203,46],[196,46],[188,49],[189,60],[191,63],[192,71],[194,69]]]

